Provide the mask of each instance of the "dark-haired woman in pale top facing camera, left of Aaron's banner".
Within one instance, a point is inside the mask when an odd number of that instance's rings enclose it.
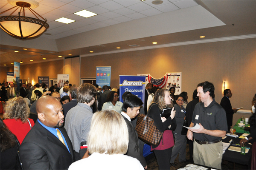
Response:
[[[116,91],[111,91],[108,94],[107,102],[105,102],[102,106],[102,111],[106,109],[115,110],[118,113],[122,112],[122,102],[118,101],[118,94]]]

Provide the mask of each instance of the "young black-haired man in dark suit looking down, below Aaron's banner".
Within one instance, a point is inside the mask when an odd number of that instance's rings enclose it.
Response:
[[[147,169],[147,163],[143,154],[140,152],[138,134],[134,128],[134,125],[131,123],[131,119],[137,116],[140,113],[140,106],[143,105],[141,99],[133,94],[127,95],[125,101],[122,105],[122,116],[125,119],[125,122],[128,126],[129,132],[129,144],[128,150],[125,155],[136,158],[140,161],[142,166]]]

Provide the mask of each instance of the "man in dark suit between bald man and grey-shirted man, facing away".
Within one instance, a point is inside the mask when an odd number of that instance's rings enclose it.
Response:
[[[78,87],[79,87],[78,85],[71,86],[71,88],[70,88],[70,102],[62,105],[64,118],[66,117],[67,112],[71,108],[73,108],[77,105],[76,92],[77,92]]]

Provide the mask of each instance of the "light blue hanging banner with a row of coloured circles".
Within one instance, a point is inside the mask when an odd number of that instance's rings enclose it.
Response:
[[[111,67],[96,67],[96,84],[110,86]]]

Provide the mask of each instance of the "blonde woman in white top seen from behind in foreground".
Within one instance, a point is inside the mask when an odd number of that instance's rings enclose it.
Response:
[[[128,135],[128,127],[120,113],[109,109],[94,113],[87,138],[91,156],[74,162],[69,170],[85,167],[88,170],[144,170],[140,161],[124,155],[128,149]]]

